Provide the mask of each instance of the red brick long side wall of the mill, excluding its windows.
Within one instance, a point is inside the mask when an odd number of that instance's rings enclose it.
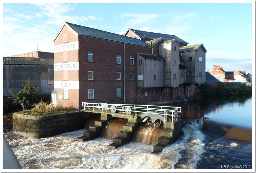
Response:
[[[88,62],[88,52],[93,52],[93,62]],[[137,52],[150,53],[150,47],[125,44],[125,103],[137,101]],[[121,55],[121,64],[116,64],[116,55]],[[124,43],[79,37],[79,102],[124,102]],[[130,56],[134,65],[130,65]],[[93,81],[88,80],[88,71],[93,71]],[[116,73],[121,72],[121,81]],[[130,81],[134,73],[134,81]],[[116,97],[121,88],[121,97]],[[88,100],[88,89],[94,89],[94,99]]]

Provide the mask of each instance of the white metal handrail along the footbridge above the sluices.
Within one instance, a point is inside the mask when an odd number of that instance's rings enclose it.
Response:
[[[167,120],[168,116],[174,117],[174,109],[178,109],[181,112],[181,107],[173,107],[173,106],[155,106],[155,105],[131,105],[131,104],[108,104],[108,103],[89,103],[89,102],[82,102],[82,107],[84,107],[84,110],[86,108],[92,109],[94,111],[95,109],[102,110],[110,110],[113,109],[115,111],[121,111],[125,115],[125,112],[135,112],[135,115],[138,115],[138,113],[145,113],[149,111],[156,111],[152,114],[158,114],[164,116],[164,120]],[[167,109],[165,109],[167,108]],[[171,113],[171,114],[170,114]],[[129,115],[129,114],[127,114]]]

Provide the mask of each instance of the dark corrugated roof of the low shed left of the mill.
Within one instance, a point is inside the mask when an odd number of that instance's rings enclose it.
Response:
[[[3,65],[54,65],[53,58],[3,57]]]

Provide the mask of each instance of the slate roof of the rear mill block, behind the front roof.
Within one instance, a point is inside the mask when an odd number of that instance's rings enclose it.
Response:
[[[140,31],[140,30],[137,30],[137,29],[130,29],[130,28],[128,29],[128,31],[129,30],[134,32],[140,38],[157,39],[157,38],[163,37],[165,40],[177,39],[181,43],[187,43],[186,41],[182,40],[181,38],[179,38],[175,35],[161,34],[161,33],[148,32],[148,31]],[[128,33],[128,31],[126,33]]]

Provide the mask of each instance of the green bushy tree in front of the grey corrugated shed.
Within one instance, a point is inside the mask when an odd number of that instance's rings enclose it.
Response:
[[[22,90],[18,93],[10,91],[12,96],[9,98],[13,100],[13,103],[22,105],[23,109],[30,109],[32,105],[39,102],[37,98],[39,88],[31,84],[29,78],[27,79],[27,82],[22,84],[21,88]]]

